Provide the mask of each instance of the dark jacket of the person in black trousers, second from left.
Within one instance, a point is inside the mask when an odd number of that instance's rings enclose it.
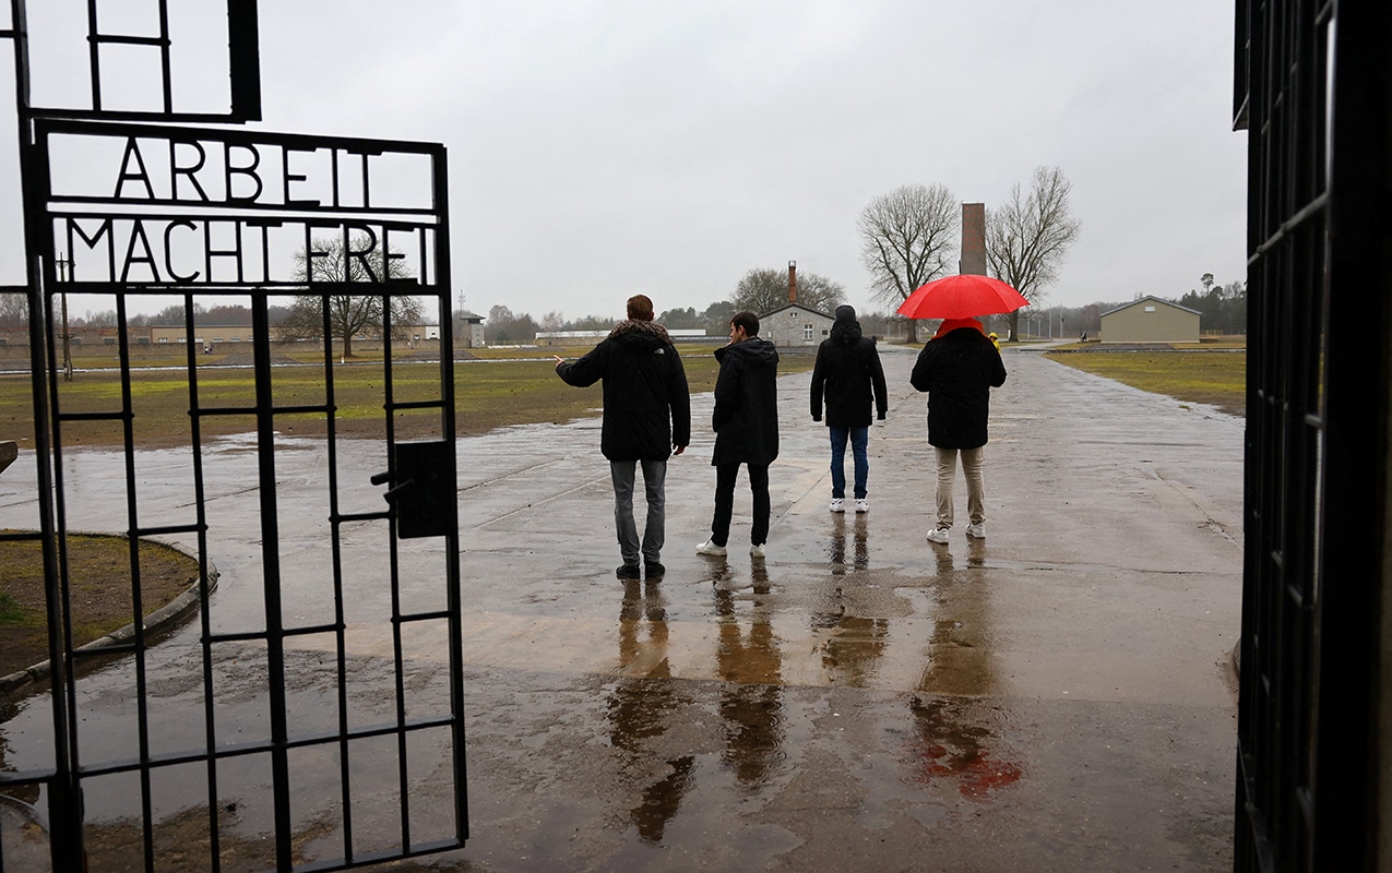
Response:
[[[715,349],[715,451],[710,462],[773,464],[778,457],[778,349],[761,337]]]

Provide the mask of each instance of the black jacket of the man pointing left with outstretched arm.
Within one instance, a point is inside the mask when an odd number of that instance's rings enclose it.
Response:
[[[579,388],[604,380],[600,451],[610,461],[665,461],[692,437],[686,370],[667,330],[653,322],[619,322],[587,355],[555,368]]]

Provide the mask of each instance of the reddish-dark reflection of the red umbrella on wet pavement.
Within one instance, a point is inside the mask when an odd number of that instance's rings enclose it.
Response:
[[[966,707],[965,700],[909,699],[913,737],[901,759],[906,784],[927,787],[934,780],[952,780],[963,798],[986,802],[1020,780],[1025,770],[995,757],[992,746],[999,745],[999,737]]]

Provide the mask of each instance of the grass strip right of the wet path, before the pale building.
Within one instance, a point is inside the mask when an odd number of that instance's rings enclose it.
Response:
[[[1229,415],[1246,415],[1247,355],[1243,352],[1089,349],[1047,354],[1059,363],[1115,379],[1143,391],[1210,404]]]

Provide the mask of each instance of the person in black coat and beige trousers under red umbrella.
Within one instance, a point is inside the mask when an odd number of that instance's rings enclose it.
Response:
[[[1005,384],[1005,365],[976,319],[948,319],[919,352],[909,382],[928,393],[928,443],[938,464],[938,521],[928,540],[945,544],[952,529],[952,480],[962,458],[966,535],[986,539],[986,420],[991,388]]]

